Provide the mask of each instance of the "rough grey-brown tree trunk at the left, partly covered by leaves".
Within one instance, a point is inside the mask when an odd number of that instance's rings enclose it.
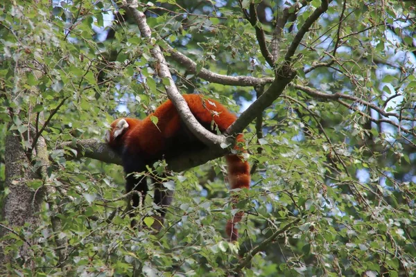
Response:
[[[6,264],[18,262],[23,267],[33,267],[33,252],[31,246],[35,244],[30,234],[37,229],[40,220],[38,213],[42,204],[43,190],[33,190],[27,186],[28,181],[40,179],[40,176],[33,171],[31,161],[21,144],[22,137],[18,132],[12,132],[6,136],[6,188],[8,195],[3,204],[2,220],[6,225],[0,225],[0,267]],[[23,230],[13,230],[26,224]],[[16,244],[16,238],[8,238],[13,233],[23,241],[23,244]],[[19,245],[21,245],[19,247]]]

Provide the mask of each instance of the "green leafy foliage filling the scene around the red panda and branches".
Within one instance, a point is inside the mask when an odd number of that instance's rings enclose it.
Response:
[[[121,167],[73,159],[76,150],[62,149],[64,142],[101,138],[114,118],[149,114],[166,100],[164,80],[157,77],[153,45],[113,1],[36,2],[16,0],[0,8],[0,199],[8,194],[6,134],[17,130],[31,152],[32,125],[42,130],[53,163],[49,181],[26,186],[56,188],[49,197],[58,211],[44,204],[42,224],[33,231],[28,224],[1,222],[0,229],[12,232],[0,242],[16,242],[3,246],[15,253],[9,274],[225,276],[241,270],[245,276],[414,276],[411,1],[331,1],[309,28],[293,57],[297,78],[263,111],[261,127],[252,123],[245,130],[255,172],[238,206],[248,213],[235,244],[223,234],[238,209],[229,204],[221,159],[163,180],[166,189],[175,188],[175,201],[164,229],[153,233],[130,228]],[[281,64],[322,4],[277,2],[155,1],[139,3],[139,10],[146,12],[156,44],[167,43],[196,62],[193,73],[165,53],[177,87],[218,98],[239,112],[255,99],[252,86],[207,82],[198,73],[274,77],[255,27],[262,27],[270,44],[273,18],[282,17],[284,8],[294,12],[275,53]],[[258,21],[252,26],[244,11],[254,4]],[[155,174],[165,166],[157,164]],[[150,195],[138,222],[151,226],[155,208]],[[62,230],[53,231],[52,216]],[[286,224],[291,226],[280,233]],[[67,240],[64,267],[57,238]],[[29,258],[34,268],[19,256],[28,240],[35,241]]]

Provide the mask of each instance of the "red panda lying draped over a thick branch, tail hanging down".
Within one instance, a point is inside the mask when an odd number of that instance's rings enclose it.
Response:
[[[234,123],[236,116],[216,100],[203,99],[198,95],[184,95],[189,109],[199,123],[211,132],[218,127],[220,132]],[[157,117],[157,123],[151,118]],[[215,124],[212,124],[214,121]],[[116,153],[121,155],[126,177],[126,192],[139,190],[142,197],[146,196],[148,187],[146,178],[136,179],[130,173],[143,172],[147,166],[152,166],[159,159],[175,157],[182,152],[200,150],[205,145],[196,139],[187,126],[180,119],[179,114],[171,100],[167,100],[157,107],[153,114],[144,120],[135,118],[119,118],[111,124],[111,130],[107,131],[105,141]],[[237,142],[243,142],[242,134],[236,137]],[[235,147],[240,150],[239,146]],[[225,157],[228,166],[228,180],[231,189],[250,188],[250,165],[243,161],[239,155],[228,154]],[[156,182],[157,183],[157,182]],[[163,222],[166,210],[163,207],[171,204],[172,195],[160,186],[155,188],[154,202],[162,206],[159,210],[161,222]],[[235,202],[236,199],[233,199]],[[132,207],[139,206],[139,196],[132,196]],[[241,221],[243,211],[234,215],[227,222],[225,231],[231,241],[239,237],[234,224]]]

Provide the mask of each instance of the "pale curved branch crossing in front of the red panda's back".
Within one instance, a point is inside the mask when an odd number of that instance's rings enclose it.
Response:
[[[198,120],[196,120],[195,116],[191,113],[191,110],[187,105],[187,101],[184,100],[184,98],[180,95],[180,92],[177,90],[159,45],[157,45],[155,39],[152,38],[152,31],[146,22],[146,15],[144,15],[143,12],[139,12],[136,7],[137,0],[128,1],[128,6],[123,6],[125,10],[128,10],[128,12],[131,13],[132,18],[139,27],[141,36],[147,38],[148,43],[153,45],[153,47],[150,48],[150,53],[153,55],[155,60],[157,60],[159,66],[157,73],[160,78],[168,80],[169,84],[165,84],[164,87],[166,89],[166,93],[168,94],[168,98],[173,102],[173,105],[175,105],[180,118],[182,118],[185,125],[187,125],[189,130],[191,130],[192,134],[205,143],[205,145],[220,146],[221,144],[226,143],[224,136],[217,136],[216,134],[209,132],[207,129],[202,127],[202,125],[200,125]]]

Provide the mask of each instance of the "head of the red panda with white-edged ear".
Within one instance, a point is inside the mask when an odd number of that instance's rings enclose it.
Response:
[[[121,150],[125,137],[130,130],[140,123],[136,118],[118,118],[111,123],[111,129],[105,132],[105,142],[114,150]]]

